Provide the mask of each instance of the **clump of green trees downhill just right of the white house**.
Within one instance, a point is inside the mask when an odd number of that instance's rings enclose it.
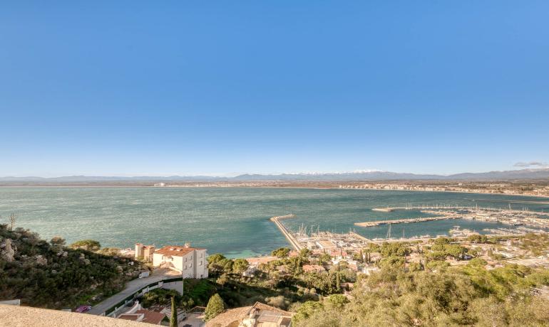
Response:
[[[207,291],[200,292],[202,298],[217,292],[230,308],[261,301],[280,309],[291,309],[294,304],[338,293],[342,283],[356,281],[356,273],[347,262],[332,267],[329,272],[303,272],[304,264],[318,264],[322,257],[327,256],[329,262],[328,254],[315,257],[307,250],[299,252],[296,257],[287,257],[288,249],[278,249],[276,253],[282,258],[260,264],[254,277],[242,277],[242,271],[248,267],[246,260],[212,254],[208,257],[208,267],[215,283],[211,282]],[[190,289],[195,291],[193,287]],[[193,300],[200,305],[195,297]]]

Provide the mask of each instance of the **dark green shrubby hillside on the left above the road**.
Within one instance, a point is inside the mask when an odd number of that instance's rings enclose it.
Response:
[[[93,304],[116,294],[143,269],[132,259],[64,245],[61,237],[46,242],[21,227],[0,225],[0,299],[52,309]]]

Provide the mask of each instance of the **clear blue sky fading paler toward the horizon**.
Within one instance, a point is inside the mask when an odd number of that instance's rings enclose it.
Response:
[[[546,164],[548,13],[549,1],[4,1],[0,176]]]

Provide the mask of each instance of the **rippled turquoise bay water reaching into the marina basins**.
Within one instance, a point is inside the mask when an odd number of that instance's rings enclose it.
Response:
[[[517,201],[537,203],[518,203]],[[268,218],[293,213],[285,220],[294,229],[304,224],[320,230],[385,237],[386,226],[357,227],[376,219],[415,218],[421,213],[381,213],[371,208],[411,205],[476,205],[549,211],[549,199],[508,195],[302,188],[0,188],[0,215],[10,213],[17,225],[51,239],[93,239],[103,247],[157,246],[190,242],[230,257],[267,254],[287,241]],[[453,225],[479,232],[501,224],[467,220],[394,225],[401,236],[446,234]]]

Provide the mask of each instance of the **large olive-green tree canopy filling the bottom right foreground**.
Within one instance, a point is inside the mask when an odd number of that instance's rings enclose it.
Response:
[[[438,244],[441,245],[441,244]],[[359,279],[349,301],[305,302],[295,326],[543,326],[549,300],[533,296],[549,271],[509,265],[486,270],[481,259],[463,267],[411,271],[401,264]]]

